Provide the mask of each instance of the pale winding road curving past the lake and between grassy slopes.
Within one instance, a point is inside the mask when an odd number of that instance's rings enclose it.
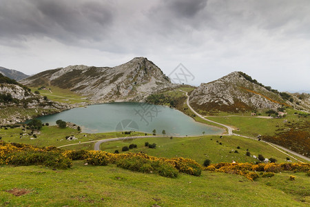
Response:
[[[216,121],[211,121],[209,119],[205,119],[205,117],[203,117],[202,115],[198,114],[198,112],[196,112],[192,106],[189,105],[189,95],[187,94],[187,92],[183,91],[183,90],[180,90],[181,92],[184,92],[185,95],[187,96],[187,100],[186,100],[186,103],[187,103],[187,106],[190,108],[190,110],[192,110],[192,112],[194,112],[195,115],[197,115],[198,117],[200,117],[201,119],[204,119],[205,121],[209,121],[211,123],[214,123],[214,124],[218,124],[220,126],[223,126],[225,128],[227,128],[227,132],[228,134],[226,136],[229,136],[229,135],[235,135],[235,136],[238,136],[238,137],[245,137],[245,138],[248,138],[248,139],[254,139],[254,140],[257,140],[257,138],[254,138],[254,137],[247,137],[247,136],[244,136],[244,135],[238,135],[238,134],[235,134],[232,132],[232,128],[230,126],[227,126],[225,124],[220,124]],[[110,138],[110,139],[101,139],[101,140],[95,140],[95,141],[85,141],[85,142],[81,142],[81,143],[77,143],[77,144],[67,144],[67,145],[64,145],[64,146],[59,146],[58,148],[62,148],[62,147],[65,147],[65,146],[74,146],[74,145],[78,145],[78,144],[87,144],[87,143],[94,143],[94,150],[100,150],[100,146],[102,143],[104,142],[108,142],[108,141],[119,141],[119,140],[125,140],[125,139],[140,139],[140,138],[149,138],[149,137],[163,137],[163,136],[160,136],[160,135],[157,135],[157,136],[133,136],[133,137],[115,137],[115,138]],[[187,136],[174,136],[174,137],[187,137]],[[191,137],[200,137],[200,136],[191,136]],[[288,157],[291,157],[297,161],[300,161],[299,159],[296,159],[295,157],[289,155],[287,152],[291,153],[292,155],[295,155],[296,157],[300,157],[304,160],[307,160],[307,161],[310,161],[309,157],[305,157],[304,155],[300,155],[298,154],[297,152],[294,152],[292,150],[289,150],[287,148],[284,148],[282,146],[278,146],[276,144],[271,144],[270,142],[268,141],[263,141],[263,140],[260,140],[262,142],[265,142],[266,144],[268,144],[269,146],[275,148],[276,150],[284,153],[285,155],[287,155]],[[282,149],[282,150],[280,150]],[[284,152],[283,150],[287,151],[287,152]]]

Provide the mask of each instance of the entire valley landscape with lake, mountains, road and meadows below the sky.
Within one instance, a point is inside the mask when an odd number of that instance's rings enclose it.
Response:
[[[26,86],[4,80],[1,205],[310,203],[307,94],[278,92],[242,72],[175,84],[142,57],[47,70],[20,81]],[[161,114],[147,124],[135,112],[141,104]]]

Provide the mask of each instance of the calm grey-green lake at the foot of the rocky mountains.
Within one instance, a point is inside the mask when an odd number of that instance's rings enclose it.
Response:
[[[73,108],[59,114],[39,117],[43,123],[56,125],[56,120],[70,121],[81,126],[83,132],[140,131],[155,129],[160,135],[220,135],[224,130],[200,124],[191,117],[167,106],[148,103],[103,103]]]

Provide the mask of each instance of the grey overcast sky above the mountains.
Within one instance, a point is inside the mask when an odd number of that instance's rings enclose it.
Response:
[[[147,57],[199,85],[240,70],[310,90],[310,1],[0,0],[0,66],[32,75]]]

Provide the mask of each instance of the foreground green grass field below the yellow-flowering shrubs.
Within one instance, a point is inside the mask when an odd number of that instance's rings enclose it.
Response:
[[[307,206],[310,179],[282,172],[249,181],[240,175],[203,171],[176,179],[109,166],[70,170],[0,166],[0,206]],[[289,181],[293,173],[295,181]],[[16,197],[7,192],[25,189]]]

